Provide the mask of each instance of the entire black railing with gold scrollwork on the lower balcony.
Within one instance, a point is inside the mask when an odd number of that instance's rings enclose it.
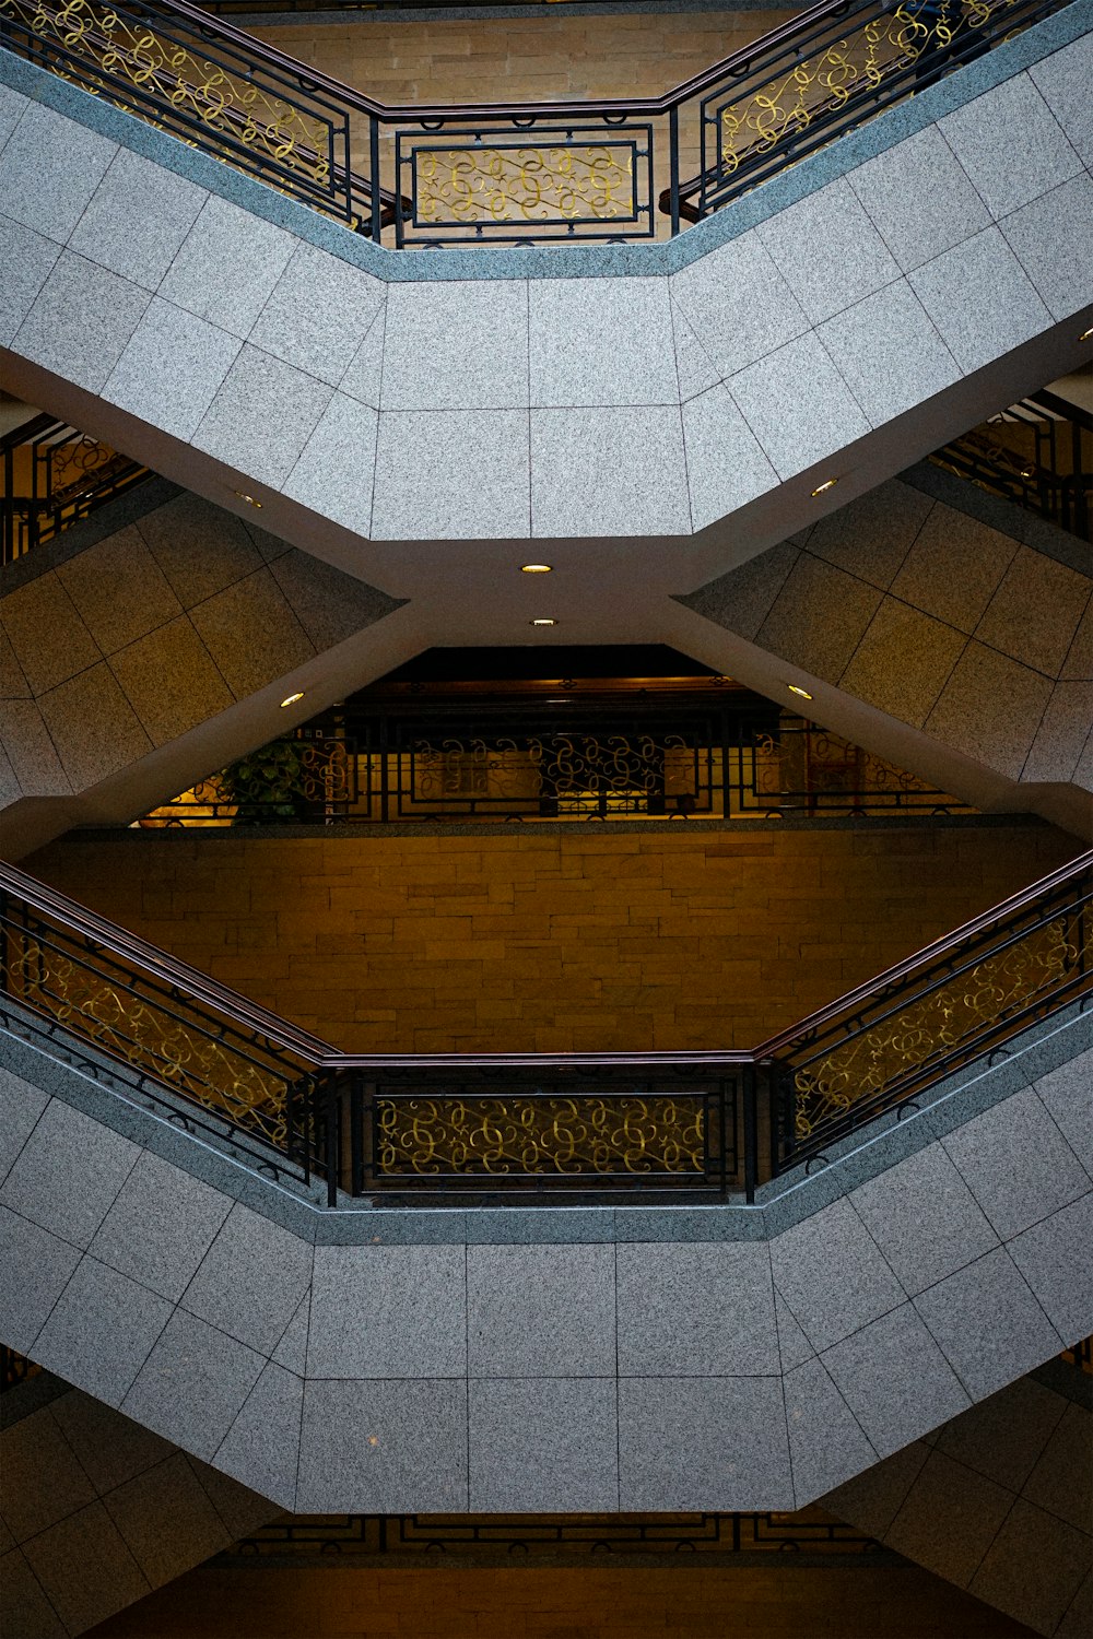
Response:
[[[755,1051],[347,1056],[0,865],[0,1019],[326,1200],[742,1193],[1093,997],[1093,852]],[[711,1024],[713,1028],[713,1024]]]

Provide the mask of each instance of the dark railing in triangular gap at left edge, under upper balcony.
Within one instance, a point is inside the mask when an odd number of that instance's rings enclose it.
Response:
[[[0,438],[0,564],[11,564],[152,474],[67,421],[38,415]]]

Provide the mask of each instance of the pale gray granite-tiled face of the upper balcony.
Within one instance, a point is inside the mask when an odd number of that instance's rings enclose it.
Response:
[[[590,277],[574,249],[536,252],[528,277],[511,252],[362,247],[244,179],[221,185],[223,167],[126,116],[102,134],[98,108],[20,66],[0,128],[0,220],[13,246],[20,229],[36,238],[0,343],[215,457],[210,485],[224,472],[259,485],[270,516],[283,495],[382,541],[710,529],[847,446],[865,456],[896,416],[931,405],[936,421],[954,384],[1093,302],[1088,41],[1047,25],[1031,34],[673,246],[585,249]],[[1014,129],[1019,164],[998,136]],[[1037,231],[1037,210],[1065,231]],[[703,434],[685,441],[680,405],[718,382]],[[341,439],[315,439],[334,390],[379,411],[375,464],[354,462],[341,503]],[[652,410],[665,415],[641,413]],[[523,418],[523,438],[505,415]],[[741,416],[764,459],[732,487],[719,475]],[[372,433],[361,423],[362,451]],[[454,446],[490,451],[487,484],[474,461],[429,461]],[[855,459],[869,469],[859,488],[885,477],[870,461],[891,470],[895,447]],[[649,449],[662,505],[639,482]],[[811,487],[798,487],[796,523],[814,515]],[[703,497],[693,515],[688,492]]]

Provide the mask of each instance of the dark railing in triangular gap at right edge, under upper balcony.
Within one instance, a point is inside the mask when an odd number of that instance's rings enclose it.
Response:
[[[1093,538],[1093,415],[1057,393],[1034,393],[931,456],[991,495]]]

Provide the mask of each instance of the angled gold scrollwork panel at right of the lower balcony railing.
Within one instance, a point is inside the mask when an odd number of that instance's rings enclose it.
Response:
[[[798,1070],[798,1141],[811,1137],[824,1121],[844,1116],[859,1100],[883,1093],[937,1054],[960,1047],[985,1026],[1049,995],[1077,965],[1082,954],[1077,938],[1077,924],[1057,918]],[[1085,956],[1093,959],[1090,934],[1085,936]]]

